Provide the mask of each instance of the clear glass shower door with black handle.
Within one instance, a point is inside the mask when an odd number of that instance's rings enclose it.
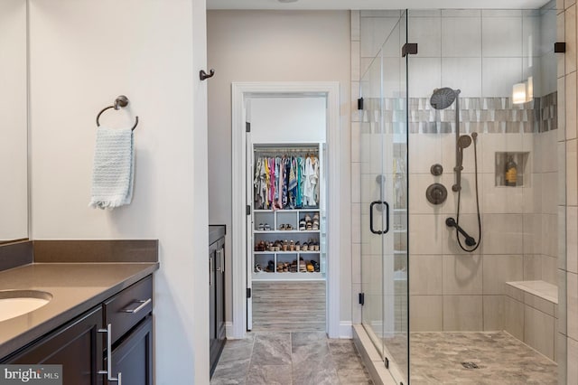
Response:
[[[408,381],[406,12],[361,79],[361,319],[396,382]]]

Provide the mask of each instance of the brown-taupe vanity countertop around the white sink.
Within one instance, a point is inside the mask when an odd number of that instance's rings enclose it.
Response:
[[[33,263],[0,272],[0,290],[42,290],[51,301],[0,322],[0,359],[152,274],[158,262]]]

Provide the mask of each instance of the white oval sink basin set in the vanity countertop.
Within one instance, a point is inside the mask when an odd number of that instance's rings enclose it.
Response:
[[[40,290],[0,291],[0,322],[30,313],[48,304],[51,299],[50,293]]]

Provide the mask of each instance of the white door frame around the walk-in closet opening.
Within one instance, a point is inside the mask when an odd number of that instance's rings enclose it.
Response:
[[[340,337],[340,83],[233,82],[232,94],[232,286],[233,324],[227,337],[244,338],[247,332],[247,151],[245,102],[259,94],[315,94],[327,99],[327,333]]]

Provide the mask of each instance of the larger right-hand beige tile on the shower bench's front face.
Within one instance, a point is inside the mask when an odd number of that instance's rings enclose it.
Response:
[[[554,317],[526,305],[524,315],[524,342],[554,360]]]

